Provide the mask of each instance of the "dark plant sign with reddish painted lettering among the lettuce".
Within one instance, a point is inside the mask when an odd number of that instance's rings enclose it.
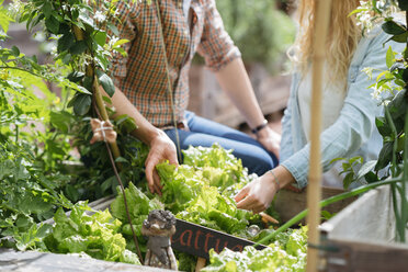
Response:
[[[175,234],[171,237],[173,249],[205,259],[209,259],[208,252],[212,248],[219,253],[224,248],[242,251],[246,246],[253,245],[252,241],[181,219],[177,219]],[[263,248],[265,246],[257,247],[257,249]]]

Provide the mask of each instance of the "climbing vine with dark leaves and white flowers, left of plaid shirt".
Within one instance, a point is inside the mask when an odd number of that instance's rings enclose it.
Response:
[[[115,20],[114,2],[101,1],[98,9],[82,0],[36,0],[21,4],[19,22],[25,22],[29,30],[44,23],[50,39],[57,42],[54,60],[71,71],[66,78],[76,93],[68,105],[80,116],[95,115],[91,111],[95,79],[110,97],[114,93],[113,81],[105,71],[112,53],[124,53],[121,45],[126,43],[111,35],[115,33],[110,23]]]

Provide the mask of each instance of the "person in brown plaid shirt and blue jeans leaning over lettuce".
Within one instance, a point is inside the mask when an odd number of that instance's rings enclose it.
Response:
[[[161,189],[155,166],[166,159],[178,163],[175,129],[181,149],[218,143],[234,149],[249,172],[258,174],[277,165],[280,136],[267,126],[215,0],[123,0],[116,12],[122,22],[118,36],[131,42],[125,44],[127,56],[112,60],[117,87],[112,103],[118,114],[135,120],[134,135],[150,146],[146,177],[151,192]],[[205,58],[258,140],[186,111],[188,73],[195,52]]]

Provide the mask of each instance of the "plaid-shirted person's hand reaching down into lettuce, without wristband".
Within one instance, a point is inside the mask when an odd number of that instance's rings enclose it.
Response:
[[[177,159],[177,149],[171,139],[160,129],[157,129],[158,134],[150,141],[150,151],[147,156],[146,166],[146,179],[151,193],[158,193],[161,195],[162,185],[160,184],[160,178],[156,170],[156,165],[169,160],[171,165],[179,165]]]

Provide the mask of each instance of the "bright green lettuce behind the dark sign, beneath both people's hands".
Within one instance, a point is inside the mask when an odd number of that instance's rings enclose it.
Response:
[[[141,251],[146,247],[140,234],[141,224],[155,208],[166,208],[178,218],[251,238],[247,229],[252,224],[261,226],[260,216],[238,209],[233,196],[256,177],[248,175],[240,160],[219,145],[211,148],[190,147],[183,152],[184,160],[191,166],[181,165],[175,168],[167,162],[157,166],[163,185],[160,199],[149,193],[146,185],[138,189],[129,183],[125,190]],[[215,174],[208,174],[209,172]],[[122,192],[118,192],[112,203],[111,211],[114,217],[127,222]],[[134,249],[129,224],[122,227],[122,233],[127,239],[128,248]],[[189,267],[190,261],[184,261],[183,265]]]

